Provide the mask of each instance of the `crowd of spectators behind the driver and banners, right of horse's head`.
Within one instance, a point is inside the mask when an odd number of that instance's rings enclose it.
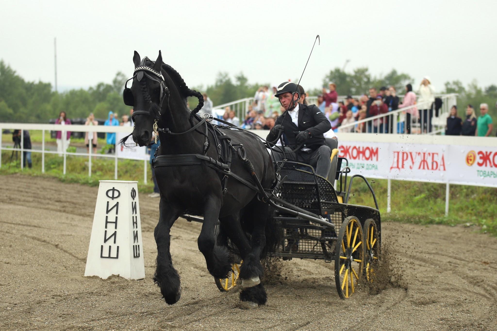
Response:
[[[299,87],[301,95],[299,102],[307,104],[308,95],[302,86]],[[261,86],[248,106],[245,118],[237,117],[237,113],[228,106],[222,119],[243,129],[272,129],[275,120],[285,111],[278,98],[274,96],[275,93],[276,86],[273,86],[272,90],[269,90],[268,86]],[[379,89],[371,87],[367,94],[364,93],[360,97],[347,95],[343,101],[338,99],[336,84],[330,83],[328,88],[323,88],[322,94],[318,95],[316,106],[326,115],[334,132],[347,133],[430,133],[433,131],[433,118],[439,117],[443,103],[442,99],[435,97],[434,87],[428,76],[423,78],[416,92],[412,84],[407,84],[402,102],[395,86],[382,86]],[[212,101],[206,94],[204,100],[208,101],[204,101],[202,111],[213,114]],[[380,116],[371,121],[360,122],[400,108],[407,109],[390,116]],[[457,106],[453,106],[447,118],[445,134],[490,136],[493,123],[488,110],[488,105],[482,103],[480,116],[477,117],[473,106],[468,105],[466,119],[463,120],[457,116]],[[413,124],[417,124],[415,128]]]

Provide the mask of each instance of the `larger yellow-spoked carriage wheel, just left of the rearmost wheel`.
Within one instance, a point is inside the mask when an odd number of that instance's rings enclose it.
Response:
[[[341,299],[357,290],[364,263],[362,226],[357,217],[347,217],[340,228],[335,248],[335,283]]]

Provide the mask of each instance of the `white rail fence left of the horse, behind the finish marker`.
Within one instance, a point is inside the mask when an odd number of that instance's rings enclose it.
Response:
[[[66,129],[65,131],[62,129]],[[62,139],[66,139],[66,132],[67,131],[76,131],[76,132],[108,132],[108,133],[117,133],[117,132],[124,132],[124,133],[131,133],[133,131],[132,127],[126,127],[126,126],[103,126],[103,125],[97,125],[97,126],[88,126],[88,125],[70,125],[70,126],[64,126],[61,128],[61,125],[57,124],[26,124],[26,123],[0,123],[0,132],[2,133],[3,130],[9,129],[9,130],[21,130],[21,143],[20,143],[20,148],[5,148],[2,147],[2,135],[0,134],[0,167],[1,167],[1,151],[18,151],[20,153],[20,160],[21,160],[21,170],[24,168],[24,153],[23,152],[31,152],[31,153],[41,153],[41,172],[45,172],[45,155],[46,154],[59,154],[58,151],[46,151],[45,147],[45,132],[46,131],[62,131]],[[33,130],[33,131],[41,131],[42,132],[42,141],[41,141],[41,150],[37,149],[24,149],[24,130]],[[117,141],[116,141],[117,144]],[[65,144],[63,144],[65,146]],[[88,158],[88,176],[91,176],[91,160],[92,156],[98,156],[99,158],[113,158],[114,159],[114,179],[117,180],[117,161],[119,159],[117,152],[115,152],[113,155],[108,155],[108,154],[92,154],[91,153],[91,148],[88,148],[88,153],[74,153],[74,152],[67,152],[65,149],[63,149],[62,154],[63,154],[63,174],[66,174],[66,164],[67,164],[67,156],[68,155],[75,155],[75,156],[83,156]],[[144,160],[144,169],[143,169],[143,181],[147,183],[147,168],[149,167],[149,160]]]

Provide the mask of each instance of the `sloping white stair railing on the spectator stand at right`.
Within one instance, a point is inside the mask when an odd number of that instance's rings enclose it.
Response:
[[[363,133],[360,128],[364,127],[365,133],[403,134],[408,132],[409,126],[411,134],[433,135],[441,133],[445,129],[450,108],[457,102],[457,94],[445,94],[437,97],[442,100],[438,116],[435,116],[434,105],[431,102],[421,102],[413,106],[355,121],[354,123],[341,125],[338,127],[338,132]],[[411,115],[409,122],[406,114],[414,108],[417,108],[418,116]],[[430,114],[433,117],[430,117]]]

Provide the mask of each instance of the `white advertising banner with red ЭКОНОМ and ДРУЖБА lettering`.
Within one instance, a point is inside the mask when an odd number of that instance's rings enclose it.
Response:
[[[497,146],[340,141],[338,150],[366,178],[497,187]]]

